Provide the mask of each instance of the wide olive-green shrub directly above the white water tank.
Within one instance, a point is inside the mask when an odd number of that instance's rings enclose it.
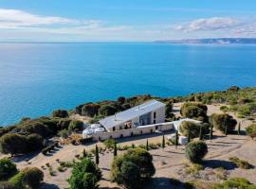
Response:
[[[189,136],[189,131],[191,134],[191,138],[195,138],[199,136],[200,133],[200,127],[202,127],[202,131],[204,134],[208,134],[210,131],[210,125],[209,124],[198,124],[191,121],[183,121],[179,127],[179,131],[184,136]]]

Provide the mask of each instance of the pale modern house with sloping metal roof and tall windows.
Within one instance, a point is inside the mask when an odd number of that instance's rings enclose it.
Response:
[[[127,111],[116,113],[100,120],[107,131],[134,129],[139,126],[165,122],[165,104],[150,100]]]

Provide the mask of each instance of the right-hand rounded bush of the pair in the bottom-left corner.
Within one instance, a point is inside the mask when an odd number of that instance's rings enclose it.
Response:
[[[27,167],[10,179],[10,182],[18,187],[36,189],[44,180],[44,172],[37,167]]]

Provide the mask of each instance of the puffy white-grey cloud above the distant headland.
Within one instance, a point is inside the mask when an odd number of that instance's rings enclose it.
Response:
[[[219,30],[242,26],[244,23],[238,19],[229,17],[211,17],[193,20],[192,22],[174,26],[174,29],[181,31],[203,31]]]

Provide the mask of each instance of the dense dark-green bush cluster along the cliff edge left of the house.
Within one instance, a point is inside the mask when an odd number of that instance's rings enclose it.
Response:
[[[82,130],[82,121],[64,117],[66,113],[59,110],[52,113],[55,117],[25,118],[15,126],[1,128],[0,151],[12,155],[37,151],[44,147],[46,138],[61,130]]]

